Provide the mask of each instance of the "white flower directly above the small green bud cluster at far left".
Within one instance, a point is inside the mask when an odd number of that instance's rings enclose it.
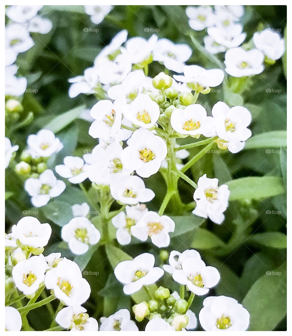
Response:
[[[42,129],[37,134],[31,134],[27,139],[28,150],[32,157],[49,157],[53,153],[58,153],[63,144],[55,134],[48,129]]]

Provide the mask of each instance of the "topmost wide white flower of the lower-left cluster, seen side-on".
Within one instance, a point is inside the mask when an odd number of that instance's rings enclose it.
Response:
[[[19,239],[20,243],[35,248],[46,246],[52,234],[50,224],[41,224],[32,216],[20,219],[12,226],[11,231],[14,239]]]

